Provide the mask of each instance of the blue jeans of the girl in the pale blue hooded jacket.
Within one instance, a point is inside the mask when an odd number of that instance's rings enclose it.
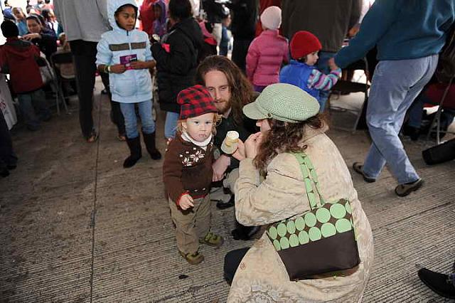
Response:
[[[136,110],[134,110],[135,104],[139,108],[142,132],[144,134],[155,132],[155,122],[151,117],[151,100],[137,103],[120,103],[120,110],[122,110],[125,119],[125,130],[127,131],[128,139],[134,139],[139,136],[139,132],[137,132]]]

